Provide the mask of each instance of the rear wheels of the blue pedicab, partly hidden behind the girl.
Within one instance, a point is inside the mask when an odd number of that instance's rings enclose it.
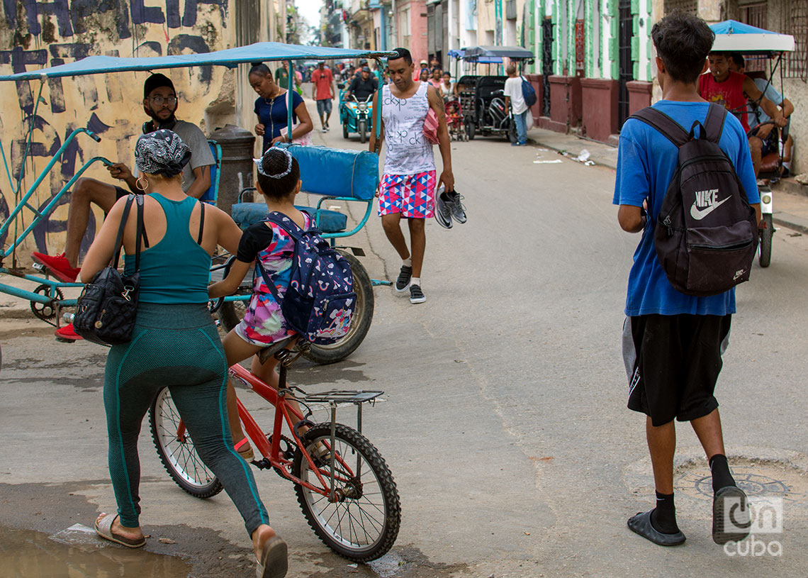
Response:
[[[312,345],[303,355],[314,363],[326,365],[343,361],[356,351],[368,335],[370,323],[373,320],[373,285],[368,272],[349,251],[337,249],[340,255],[347,259],[351,265],[354,276],[354,291],[356,292],[356,310],[351,319],[351,327],[341,339],[330,345]],[[241,323],[246,312],[246,302],[225,302],[218,310],[219,320],[225,331],[230,331]]]

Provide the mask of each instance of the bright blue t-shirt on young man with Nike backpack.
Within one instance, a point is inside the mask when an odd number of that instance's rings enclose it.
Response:
[[[689,129],[694,120],[704,122],[709,103],[685,103],[660,100],[654,108],[671,116]],[[724,131],[718,142],[735,166],[747,193],[749,203],[760,203],[760,195],[752,169],[747,135],[740,121],[733,115],[726,116]],[[650,222],[656,222],[676,166],[679,150],[671,141],[642,120],[627,120],[620,133],[620,149],[617,153],[617,179],[615,180],[615,205],[642,207],[648,199]],[[636,315],[726,315],[735,312],[735,290],[712,297],[692,297],[680,293],[667,281],[659,264],[654,247],[654,229],[649,224],[642,231],[642,238],[634,251],[634,264],[629,272],[629,291],[625,300],[625,314]]]

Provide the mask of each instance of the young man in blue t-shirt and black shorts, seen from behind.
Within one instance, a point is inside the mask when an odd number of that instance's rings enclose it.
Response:
[[[699,96],[697,80],[707,70],[713,32],[704,20],[675,12],[654,24],[651,37],[663,91],[663,100],[654,108],[685,129],[695,120],[704,122],[709,103]],[[747,137],[732,115],[726,116],[719,146],[734,163],[760,221],[760,196]],[[713,297],[685,295],[667,281],[659,264],[653,223],[677,163],[678,150],[671,141],[642,121],[626,121],[620,133],[613,203],[620,205],[617,219],[623,230],[642,231],[642,238],[629,273],[624,357],[629,409],[647,416],[646,437],[656,487],[656,507],[631,517],[628,524],[661,546],[684,542],[673,501],[674,419],[689,421],[713,473],[713,541],[724,544],[745,538],[751,525],[747,496],[735,485],[726,461],[718,402],[713,396],[735,312],[735,292],[731,289]]]

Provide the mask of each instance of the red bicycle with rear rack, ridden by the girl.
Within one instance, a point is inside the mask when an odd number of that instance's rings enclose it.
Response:
[[[238,379],[275,407],[272,433],[267,436],[241,401],[238,402],[238,416],[244,431],[261,456],[252,465],[260,470],[275,470],[295,484],[303,514],[326,546],[357,562],[377,559],[393,546],[401,524],[401,504],[393,475],[379,451],[361,433],[362,405],[375,403],[384,392],[331,390],[306,394],[299,387],[289,387],[288,367],[308,345],[299,344],[294,351],[286,349],[295,339],[280,342],[261,353],[263,359],[274,355],[280,362],[278,390],[241,365],[229,369],[231,378]],[[305,416],[290,405],[291,400],[308,410]],[[330,423],[309,421],[312,403],[328,404]],[[356,429],[337,423],[336,411],[340,403],[356,405]],[[149,423],[158,456],[179,487],[198,498],[209,498],[221,492],[221,482],[196,453],[167,387],[154,399]],[[281,432],[284,423],[289,436]],[[304,426],[308,431],[299,434]]]

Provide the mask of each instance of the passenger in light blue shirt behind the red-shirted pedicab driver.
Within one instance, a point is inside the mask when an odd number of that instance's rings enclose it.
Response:
[[[743,58],[743,54],[730,54],[730,70],[744,74],[744,70],[746,70],[746,60]],[[752,82],[755,82],[755,86],[763,92],[767,99],[771,100],[775,106],[780,107],[783,117],[788,120],[789,116],[794,112],[793,103],[791,103],[789,99],[783,98],[783,95],[777,92],[775,87],[772,86],[772,83],[768,82],[766,78],[752,78]],[[749,150],[752,154],[752,164],[755,166],[755,175],[757,175],[760,172],[760,161],[769,153],[779,153],[781,142],[778,139],[779,134],[774,130],[774,124],[769,122],[772,120],[771,117],[768,116],[754,100],[749,100],[748,106],[751,108],[751,111],[747,112],[747,124],[750,127],[748,133]],[[783,167],[785,167],[786,171],[789,169],[786,163],[791,164],[789,161],[791,160],[790,152],[792,144],[793,140],[789,134],[785,142],[786,150],[784,150],[783,154]],[[786,152],[788,154],[786,154]],[[789,160],[786,161],[786,158]]]

